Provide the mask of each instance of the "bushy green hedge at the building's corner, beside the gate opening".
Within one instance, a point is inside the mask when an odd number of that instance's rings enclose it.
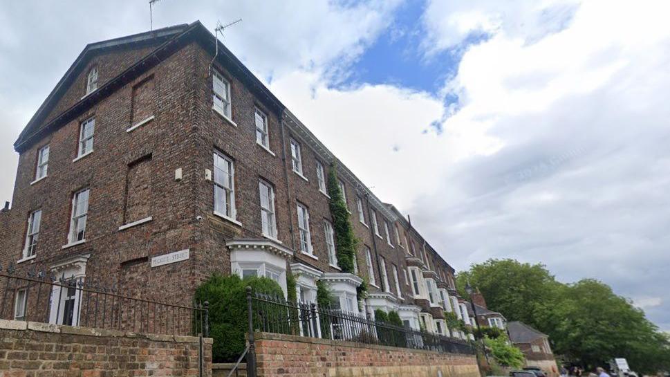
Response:
[[[213,275],[196,289],[195,300],[210,302],[210,336],[214,338],[214,362],[235,362],[246,347],[247,320],[246,287],[254,292],[283,297],[277,282],[267,277]]]

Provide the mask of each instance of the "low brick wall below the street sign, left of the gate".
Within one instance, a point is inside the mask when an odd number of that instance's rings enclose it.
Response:
[[[200,338],[0,320],[0,377],[198,376]],[[210,377],[212,339],[203,339]]]

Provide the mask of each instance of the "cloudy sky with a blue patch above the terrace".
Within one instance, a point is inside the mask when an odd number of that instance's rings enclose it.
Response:
[[[12,144],[90,42],[147,1],[0,0],[0,199]],[[667,1],[178,1],[458,270],[600,279],[670,330]],[[374,156],[370,158],[370,156]]]

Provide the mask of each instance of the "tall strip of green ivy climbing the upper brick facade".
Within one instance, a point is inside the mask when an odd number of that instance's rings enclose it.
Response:
[[[328,194],[331,196],[330,208],[335,230],[335,252],[337,266],[343,273],[353,273],[353,259],[356,255],[358,239],[353,233],[349,212],[344,202],[342,191],[339,190],[337,180],[337,163],[332,163],[328,169]]]

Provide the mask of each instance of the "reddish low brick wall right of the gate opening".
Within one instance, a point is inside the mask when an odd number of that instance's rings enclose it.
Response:
[[[256,333],[259,377],[479,377],[475,356]]]

